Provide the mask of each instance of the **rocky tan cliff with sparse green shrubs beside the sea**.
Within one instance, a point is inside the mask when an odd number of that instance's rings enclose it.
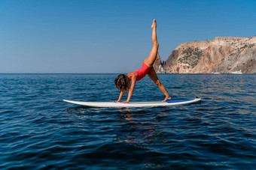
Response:
[[[163,68],[166,73],[256,73],[256,37],[182,43],[163,61]]]

